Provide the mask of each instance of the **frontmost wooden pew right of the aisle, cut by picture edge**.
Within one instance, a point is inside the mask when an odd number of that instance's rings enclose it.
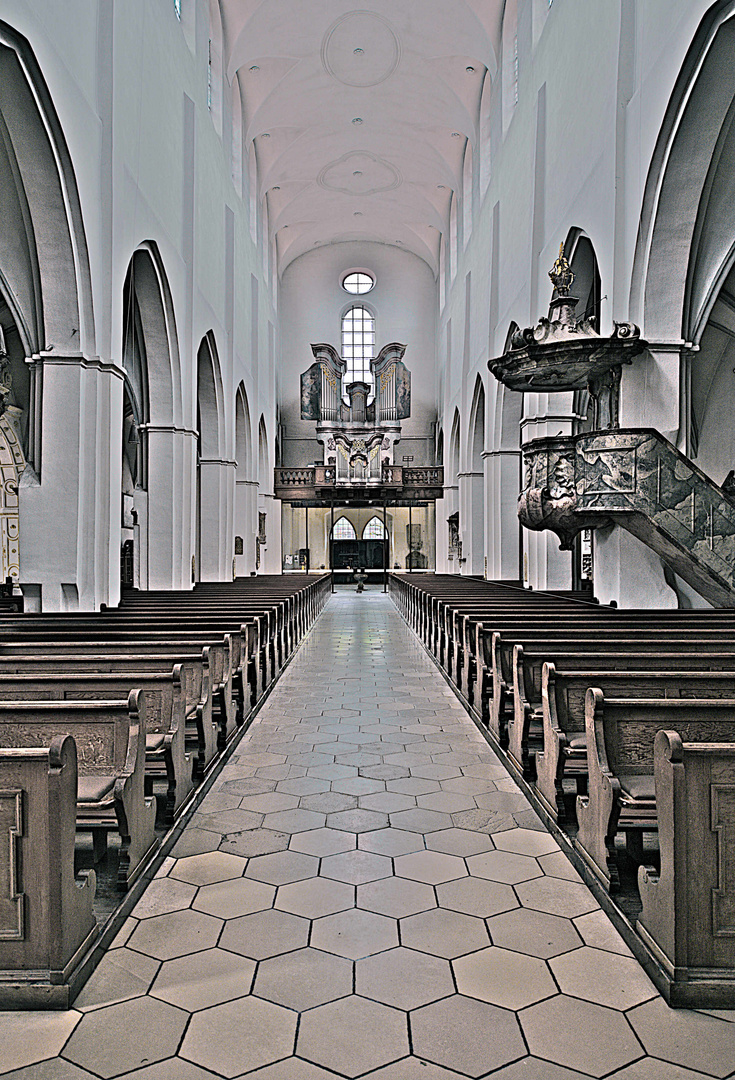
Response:
[[[735,990],[735,745],[661,730],[653,748],[661,868],[638,870],[636,929],[675,1008],[731,1009]]]

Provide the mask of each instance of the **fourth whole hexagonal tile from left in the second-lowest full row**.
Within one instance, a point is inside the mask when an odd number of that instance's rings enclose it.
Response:
[[[543,960],[504,948],[484,948],[452,961],[457,988],[503,1009],[525,1009],[557,993]]]

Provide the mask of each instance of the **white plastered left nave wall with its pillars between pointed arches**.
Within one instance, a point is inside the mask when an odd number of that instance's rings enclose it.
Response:
[[[278,339],[269,326],[277,330],[275,302],[263,271],[268,260],[250,235],[247,186],[241,192],[232,181],[229,86],[221,95],[223,137],[207,109],[207,9],[205,0],[189,0],[186,28],[173,3],[158,0],[115,5],[108,0],[6,0],[0,13],[30,42],[69,147],[94,299],[94,324],[82,326],[78,338],[82,359],[92,361],[83,368],[84,390],[72,391],[69,377],[68,389],[54,399],[57,376],[49,367],[40,487],[24,489],[21,499],[22,580],[40,585],[45,608],[73,604],[74,595],[81,607],[91,608],[118,596],[122,397],[110,396],[110,375],[97,373],[95,357],[112,368],[122,366],[123,281],[144,241],[158,245],[173,298],[181,368],[173,409],[180,431],[176,437],[190,442],[187,432],[196,427],[195,354],[213,332],[222,375],[222,459],[234,460],[234,397],[242,381],[253,422],[264,416],[273,467]],[[256,435],[254,429],[251,446]],[[151,455],[160,444],[151,440]],[[150,552],[151,573],[142,578],[188,588],[196,550],[193,462],[173,447],[164,453],[175,458],[173,491],[166,492],[165,505],[149,504],[148,517],[163,514],[169,522],[165,558],[171,576],[162,571],[161,553]],[[152,458],[151,475],[158,471]],[[257,461],[246,463],[243,478],[258,481]],[[228,578],[234,485],[228,480],[219,486],[221,536],[207,577]],[[269,514],[274,548],[280,548],[278,516]],[[243,500],[237,529],[247,534],[245,550],[253,551],[255,500]],[[145,544],[141,550],[145,554]],[[240,572],[249,572],[251,563],[244,556]],[[271,563],[277,572],[280,552]],[[59,598],[62,584],[65,599]]]

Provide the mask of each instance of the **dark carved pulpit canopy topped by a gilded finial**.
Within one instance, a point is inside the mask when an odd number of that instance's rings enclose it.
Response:
[[[488,367],[521,393],[586,389],[594,402],[594,428],[616,428],[622,365],[632,363],[648,342],[632,323],[614,323],[610,337],[601,337],[586,313],[577,318],[580,300],[570,292],[574,273],[563,244],[548,275],[554,285],[548,318],[518,330],[508,351]]]

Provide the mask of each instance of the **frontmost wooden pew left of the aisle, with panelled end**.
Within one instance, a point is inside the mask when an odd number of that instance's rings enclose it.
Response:
[[[0,750],[0,1008],[68,1009],[68,978],[97,937],[95,874],[74,877],[70,735]]]

